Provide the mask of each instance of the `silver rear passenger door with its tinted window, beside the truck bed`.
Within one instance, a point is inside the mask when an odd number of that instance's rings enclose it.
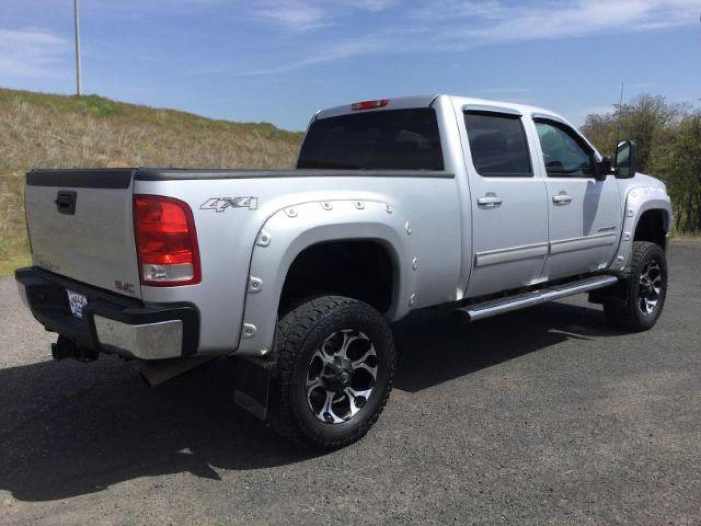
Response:
[[[547,255],[547,194],[524,117],[491,106],[461,110],[474,254],[466,296],[537,283]]]

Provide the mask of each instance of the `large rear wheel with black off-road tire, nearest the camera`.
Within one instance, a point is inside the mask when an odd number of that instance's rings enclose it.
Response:
[[[301,304],[278,323],[275,351],[273,429],[333,450],[376,422],[392,389],[395,346],[372,306],[340,296]]]

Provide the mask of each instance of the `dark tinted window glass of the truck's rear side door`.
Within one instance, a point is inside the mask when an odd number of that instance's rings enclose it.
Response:
[[[472,163],[482,177],[533,177],[519,116],[465,112]]]

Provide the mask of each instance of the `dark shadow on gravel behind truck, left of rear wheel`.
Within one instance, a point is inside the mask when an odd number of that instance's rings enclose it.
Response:
[[[44,501],[144,476],[219,480],[217,469],[310,457],[233,404],[232,376],[229,360],[156,388],[111,357],[0,370],[0,490]]]

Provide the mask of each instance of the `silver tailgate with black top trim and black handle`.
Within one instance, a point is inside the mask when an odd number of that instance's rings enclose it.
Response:
[[[141,297],[132,216],[136,170],[27,173],[25,207],[37,267]]]

